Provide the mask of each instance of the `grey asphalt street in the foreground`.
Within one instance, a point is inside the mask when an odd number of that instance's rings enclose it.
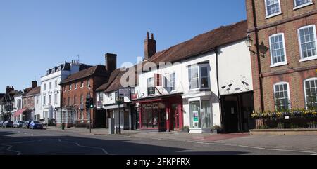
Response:
[[[226,144],[154,140],[119,135],[80,135],[54,130],[0,128],[1,155],[309,155]]]

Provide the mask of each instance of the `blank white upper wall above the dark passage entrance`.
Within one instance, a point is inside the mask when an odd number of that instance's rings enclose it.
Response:
[[[220,95],[253,90],[251,56],[246,43],[240,41],[230,46],[223,46],[219,52]],[[230,84],[231,87],[228,86]]]

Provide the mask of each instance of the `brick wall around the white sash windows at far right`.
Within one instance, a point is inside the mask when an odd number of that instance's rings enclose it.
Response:
[[[271,66],[270,50],[266,55],[257,56],[251,53],[252,76],[254,83],[254,107],[255,111],[261,110],[261,98],[263,98],[264,110],[273,111],[274,94],[273,84],[280,81],[289,83],[290,100],[292,108],[302,108],[305,106],[304,80],[316,77],[317,60],[299,62],[301,59],[299,51],[299,40],[297,29],[306,25],[316,25],[317,27],[317,4],[313,0],[313,5],[294,10],[293,1],[280,1],[282,14],[266,19],[266,7],[264,0],[254,0],[256,8],[256,22],[259,29],[259,43],[269,48],[268,37],[276,33],[284,33],[287,65],[280,67]],[[246,1],[248,28],[251,39],[255,41],[254,20],[251,0]],[[256,51],[255,46],[251,50]],[[261,63],[261,74],[259,73],[258,62]],[[263,96],[261,96],[260,79],[263,81]]]

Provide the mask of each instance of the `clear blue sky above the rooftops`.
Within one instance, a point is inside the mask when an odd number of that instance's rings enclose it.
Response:
[[[0,0],[0,93],[31,86],[65,61],[104,65],[144,55],[146,32],[163,50],[246,18],[244,0]]]

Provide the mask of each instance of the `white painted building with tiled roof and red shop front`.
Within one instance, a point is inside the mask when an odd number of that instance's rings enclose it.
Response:
[[[246,32],[247,22],[242,21],[145,57],[133,100],[140,128],[189,126],[190,133],[209,133],[216,126],[223,132],[249,130],[253,87]],[[153,36],[148,41],[146,54],[156,43]],[[151,41],[154,45],[147,46]],[[160,62],[173,65],[156,69]]]

